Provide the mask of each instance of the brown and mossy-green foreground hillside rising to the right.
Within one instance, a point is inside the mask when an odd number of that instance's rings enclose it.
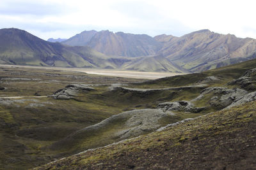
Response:
[[[37,169],[250,169],[255,125],[252,102]]]

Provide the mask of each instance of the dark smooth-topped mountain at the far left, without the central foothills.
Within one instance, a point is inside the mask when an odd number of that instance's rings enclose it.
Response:
[[[100,62],[97,62],[100,60]],[[20,29],[0,30],[0,64],[59,67],[115,67],[88,46],[44,41]]]

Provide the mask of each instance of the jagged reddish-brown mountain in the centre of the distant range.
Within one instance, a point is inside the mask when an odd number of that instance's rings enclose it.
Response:
[[[155,55],[161,43],[146,34],[127,34],[110,31],[84,31],[63,41],[66,45],[86,45],[111,56],[140,57]]]

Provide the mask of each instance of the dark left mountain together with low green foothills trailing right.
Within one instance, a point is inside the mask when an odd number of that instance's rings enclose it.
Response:
[[[154,61],[152,61],[152,59]],[[142,60],[143,67],[138,66]],[[148,61],[148,62],[146,62]],[[20,29],[0,29],[0,64],[31,66],[92,67],[138,71],[184,72],[159,56],[109,57],[89,46],[68,46],[44,41]],[[149,65],[148,65],[149,64]]]

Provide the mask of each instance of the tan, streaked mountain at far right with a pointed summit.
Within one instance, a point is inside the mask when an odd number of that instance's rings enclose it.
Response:
[[[191,71],[205,71],[248,60],[255,51],[256,39],[201,30],[166,41],[159,53]]]

